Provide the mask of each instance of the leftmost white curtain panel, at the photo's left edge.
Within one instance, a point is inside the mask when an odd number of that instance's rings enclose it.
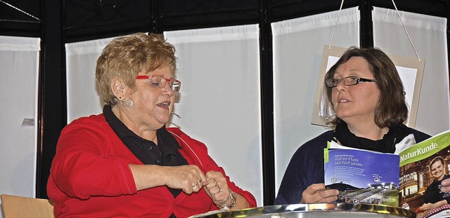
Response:
[[[39,38],[0,36],[0,193],[35,197],[39,50]]]

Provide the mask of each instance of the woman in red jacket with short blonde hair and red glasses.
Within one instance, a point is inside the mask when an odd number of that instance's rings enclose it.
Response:
[[[56,217],[189,217],[255,207],[202,142],[165,128],[181,82],[159,34],[113,39],[96,65],[103,114],[60,134],[47,184]]]

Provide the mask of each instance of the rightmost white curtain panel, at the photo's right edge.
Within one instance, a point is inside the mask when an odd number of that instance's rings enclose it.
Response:
[[[435,135],[450,128],[446,18],[399,11],[421,61],[425,61],[416,129]],[[374,46],[390,55],[416,57],[397,12],[373,8]]]

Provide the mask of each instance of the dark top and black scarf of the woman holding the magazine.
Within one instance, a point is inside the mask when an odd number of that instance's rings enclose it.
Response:
[[[428,139],[427,135],[406,125],[390,127],[383,139],[373,141],[363,137],[356,137],[347,128],[346,123],[339,123],[335,130],[329,130],[304,143],[290,159],[288,168],[283,175],[276,205],[300,203],[302,193],[311,184],[324,182],[323,149],[327,142],[339,141],[346,147],[394,153],[395,144],[401,142],[406,135],[413,134],[416,142]]]

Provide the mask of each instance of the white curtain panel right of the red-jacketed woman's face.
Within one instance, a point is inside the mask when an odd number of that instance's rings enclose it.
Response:
[[[214,161],[262,205],[257,25],[165,32],[179,58],[172,125],[204,142]]]

